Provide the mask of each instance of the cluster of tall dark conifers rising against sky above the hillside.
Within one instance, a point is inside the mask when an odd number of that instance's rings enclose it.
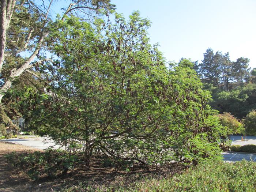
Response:
[[[223,90],[230,89],[230,82],[236,81],[242,86],[244,81],[249,80],[248,68],[249,59],[240,57],[236,62],[231,62],[229,53],[222,54],[217,51],[215,54],[211,48],[204,53],[202,63],[195,63],[194,69],[203,82],[212,84],[214,87],[223,87]]]

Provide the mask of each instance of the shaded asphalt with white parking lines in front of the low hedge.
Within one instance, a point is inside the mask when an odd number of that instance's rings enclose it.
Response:
[[[241,161],[242,159],[245,159],[247,161],[256,161],[256,154],[246,154],[246,153],[222,153],[223,154],[223,161],[225,162],[235,162],[235,161]]]

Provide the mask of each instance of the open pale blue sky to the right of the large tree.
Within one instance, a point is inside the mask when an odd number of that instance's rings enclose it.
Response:
[[[139,10],[151,20],[151,44],[167,61],[203,59],[207,48],[229,52],[231,61],[250,59],[256,67],[256,0],[112,0],[128,18]],[[63,6],[65,7],[65,6]]]

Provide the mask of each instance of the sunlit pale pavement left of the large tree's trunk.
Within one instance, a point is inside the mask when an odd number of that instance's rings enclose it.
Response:
[[[24,146],[28,147],[34,147],[38,149],[46,149],[48,147],[53,147],[53,148],[59,148],[59,145],[55,145],[54,142],[47,138],[43,137],[38,137],[38,140],[35,138],[27,138],[27,139],[17,139],[17,138],[12,138],[12,139],[0,139],[0,142],[11,142],[11,143],[16,143],[16,144],[22,144]]]

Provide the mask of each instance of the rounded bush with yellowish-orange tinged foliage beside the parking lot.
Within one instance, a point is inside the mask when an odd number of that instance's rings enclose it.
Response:
[[[222,126],[228,128],[227,134],[244,133],[244,126],[231,113],[218,114],[219,121]]]

